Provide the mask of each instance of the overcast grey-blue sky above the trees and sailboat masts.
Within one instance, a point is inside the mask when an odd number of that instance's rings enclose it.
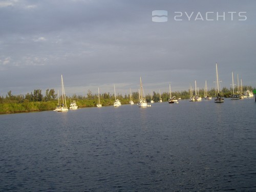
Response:
[[[256,1],[0,0],[0,95],[256,87]],[[153,15],[164,10],[166,15]],[[163,13],[165,13],[163,12]],[[156,18],[156,16],[158,18]],[[165,22],[154,22],[165,19]],[[167,19],[166,19],[167,18]],[[167,21],[166,21],[167,20]]]

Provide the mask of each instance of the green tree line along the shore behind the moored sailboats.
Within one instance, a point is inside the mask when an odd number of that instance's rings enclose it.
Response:
[[[243,86],[244,90],[253,90],[251,86]],[[255,89],[255,88],[254,88]],[[230,97],[232,94],[232,88],[222,88],[221,95],[224,97]],[[139,93],[132,92],[132,100],[134,102],[138,102]],[[198,95],[204,96],[204,89],[198,90]],[[216,96],[216,89],[208,90],[209,96]],[[176,91],[172,92],[172,96],[176,96],[181,99],[189,99],[190,98],[190,90],[187,91]],[[60,98],[62,96],[60,95]],[[127,104],[130,101],[130,94],[117,94],[117,99],[121,100],[122,104]],[[169,92],[161,93],[161,96],[158,92],[153,91],[151,94],[145,95],[145,98],[148,102],[152,100],[159,101],[160,97],[163,101],[167,101],[169,98]],[[93,94],[92,91],[88,90],[86,95],[72,95],[66,96],[67,105],[71,103],[71,101],[76,100],[77,105],[80,108],[95,106],[98,102],[98,94]],[[115,100],[114,93],[103,93],[100,94],[100,102],[103,106],[112,105]],[[34,90],[31,93],[27,93],[26,95],[13,95],[11,91],[9,91],[6,95],[0,96],[0,114],[5,113],[17,113],[17,112],[31,112],[31,111],[44,111],[44,110],[54,110],[58,103],[58,96],[55,93],[54,89],[47,89],[45,94],[42,94],[40,89]]]

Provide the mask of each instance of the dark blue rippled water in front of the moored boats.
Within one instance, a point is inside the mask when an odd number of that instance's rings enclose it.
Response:
[[[1,191],[256,191],[254,99],[0,115]]]

